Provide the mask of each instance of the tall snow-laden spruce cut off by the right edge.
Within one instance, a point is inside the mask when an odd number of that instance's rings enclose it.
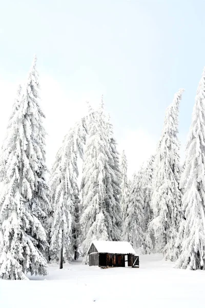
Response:
[[[176,267],[205,269],[205,68],[196,93],[186,160],[180,180],[185,220],[180,226],[182,251]]]

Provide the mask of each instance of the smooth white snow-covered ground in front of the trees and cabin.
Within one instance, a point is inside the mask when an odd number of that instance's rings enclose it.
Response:
[[[1,308],[205,307],[205,272],[175,269],[159,254],[140,256],[140,268],[50,266],[47,277],[0,280]]]

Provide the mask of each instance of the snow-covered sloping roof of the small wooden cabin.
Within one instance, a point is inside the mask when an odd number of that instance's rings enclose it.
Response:
[[[92,241],[98,253],[108,254],[133,254],[135,251],[129,242],[116,242],[116,241]]]

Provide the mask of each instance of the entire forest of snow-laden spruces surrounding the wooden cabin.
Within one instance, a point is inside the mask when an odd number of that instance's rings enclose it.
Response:
[[[205,69],[185,161],[177,137],[179,89],[156,151],[130,179],[103,96],[98,108],[88,102],[84,118],[65,131],[48,170],[39,88],[34,56],[1,145],[0,278],[47,275],[48,263],[60,258],[83,256],[87,264],[93,240],[128,241],[138,254],[162,253],[177,268],[205,269]]]

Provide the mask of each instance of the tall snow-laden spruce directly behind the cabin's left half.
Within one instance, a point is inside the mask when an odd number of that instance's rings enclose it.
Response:
[[[114,159],[103,104],[97,111],[90,108],[87,128],[80,218],[84,254],[92,240],[115,240],[118,234],[116,214],[111,213],[111,210],[116,210],[115,191],[118,187],[113,189],[117,180],[111,167],[114,166]]]

